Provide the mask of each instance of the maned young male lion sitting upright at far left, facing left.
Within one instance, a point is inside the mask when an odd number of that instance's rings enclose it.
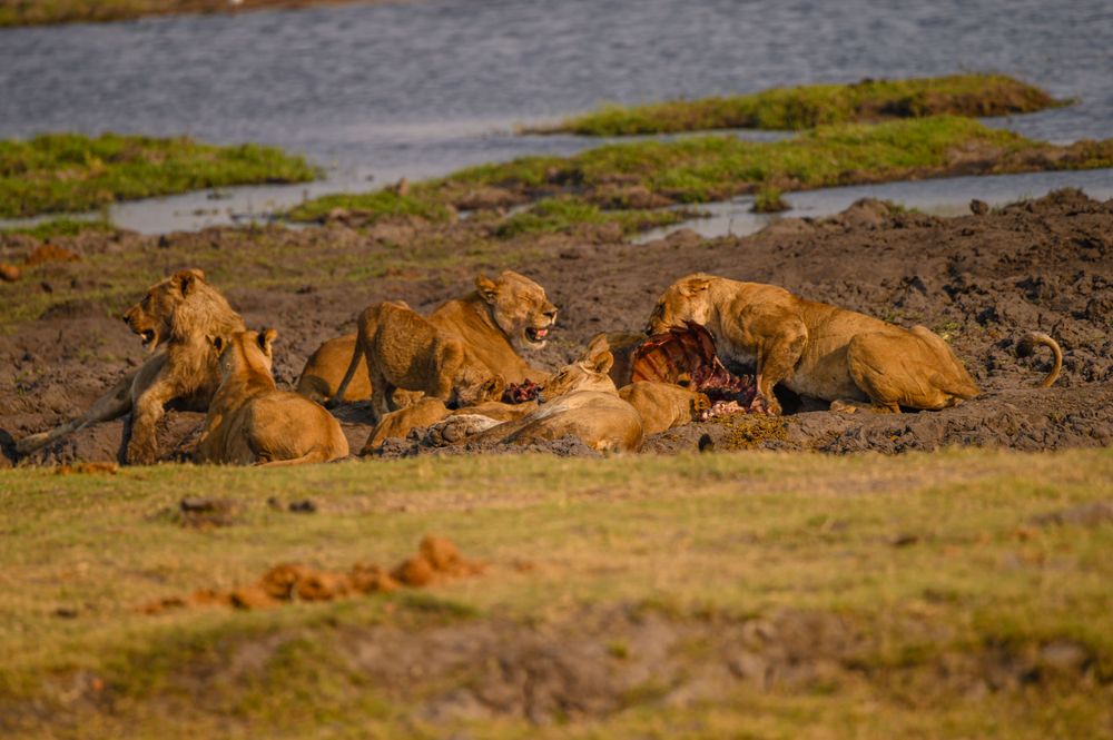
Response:
[[[26,455],[86,426],[131,413],[131,434],[125,460],[147,465],[158,460],[155,427],[167,406],[206,411],[220,382],[216,357],[205,337],[243,330],[244,320],[199,269],[184,269],[152,285],[124,314],[124,320],[152,354],[81,416],[49,432],[21,440]],[[155,354],[159,347],[162,353]]]

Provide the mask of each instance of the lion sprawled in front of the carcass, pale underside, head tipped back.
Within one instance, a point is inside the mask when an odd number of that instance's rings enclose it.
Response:
[[[516,421],[461,413],[430,430],[434,441],[532,444],[579,438],[598,452],[637,452],[643,438],[638,410],[619,397],[608,375],[614,357],[605,342],[594,342],[577,362],[561,368],[545,386],[546,401]]]

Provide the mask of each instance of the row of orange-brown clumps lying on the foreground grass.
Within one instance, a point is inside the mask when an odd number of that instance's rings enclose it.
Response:
[[[324,571],[302,563],[275,565],[258,582],[215,591],[201,589],[189,596],[169,596],[144,604],[145,614],[161,614],[190,606],[269,609],[298,601],[334,601],[361,594],[388,593],[402,588],[424,588],[480,575],[486,564],[465,560],[447,539],[425,535],[413,558],[392,569],[374,563],[356,563],[345,571]]]

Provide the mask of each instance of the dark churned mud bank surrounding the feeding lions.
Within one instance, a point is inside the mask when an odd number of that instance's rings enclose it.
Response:
[[[906,213],[877,201],[860,201],[821,220],[787,216],[743,238],[705,240],[678,230],[634,245],[605,228],[531,236],[508,248],[514,257],[505,263],[484,257],[477,265],[487,272],[519,269],[545,286],[560,307],[559,333],[532,358],[542,365],[573,358],[598,332],[641,329],[668,284],[703,270],[778,284],[897,324],[928,326],[948,338],[984,389],[955,408],[900,415],[843,415],[826,411],[821,402],[786,397],[786,410],[796,413],[781,418],[735,415],[671,430],[649,438],[647,452],[759,447],[896,453],[946,445],[1051,450],[1113,444],[1113,200],[1064,190],[958,218]],[[453,243],[469,244],[465,236],[480,228],[476,224],[411,221],[362,231],[333,224],[284,231],[282,238],[287,245],[304,244],[306,254],[322,244],[358,253],[396,250],[432,238],[450,249]],[[141,259],[157,251],[159,240],[164,247],[196,243],[211,259],[214,249],[240,238],[242,230],[209,229],[150,238],[86,235],[67,244],[79,254],[115,250],[121,259]],[[26,237],[7,237],[0,240],[0,258],[11,262],[33,246]],[[430,310],[470,289],[475,263],[436,265],[412,264],[357,283],[318,282],[306,269],[304,283],[288,289],[218,287],[249,326],[278,328],[275,375],[279,384],[293,384],[309,353],[322,341],[352,330],[364,305],[403,298]],[[90,270],[83,262],[52,265],[47,279],[95,287],[97,276]],[[1031,329],[1051,334],[1063,347],[1063,374],[1052,388],[1033,387],[1051,366],[1046,352],[1016,357],[1017,342]],[[142,358],[138,339],[96,303],[60,303],[18,325],[0,336],[0,441],[47,428],[87,407]],[[359,450],[371,430],[366,407],[356,404],[338,415],[353,450]],[[183,457],[201,421],[199,414],[167,415],[161,437],[168,460]],[[85,430],[26,462],[111,460],[122,434],[122,422]],[[10,456],[10,444],[4,444]],[[413,445],[392,450],[408,454]],[[555,444],[552,451],[584,454],[574,444]]]

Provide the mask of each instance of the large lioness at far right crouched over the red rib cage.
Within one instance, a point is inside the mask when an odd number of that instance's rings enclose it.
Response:
[[[760,283],[702,273],[658,300],[647,332],[703,325],[727,361],[754,365],[755,408],[780,414],[774,386],[833,402],[835,410],[940,410],[978,395],[969,373],[930,329],[806,300]]]

